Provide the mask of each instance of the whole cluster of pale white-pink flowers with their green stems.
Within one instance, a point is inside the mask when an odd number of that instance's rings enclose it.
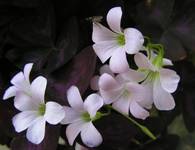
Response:
[[[93,22],[93,49],[102,63],[100,75],[91,80],[95,93],[82,99],[79,89],[72,85],[67,90],[70,106],[62,106],[54,101],[45,103],[47,79],[36,77],[30,82],[32,63],[17,73],[4,93],[3,99],[14,97],[14,106],[21,111],[12,123],[16,132],[26,131],[26,138],[40,144],[45,136],[45,125],[66,124],[66,136],[70,145],[79,135],[88,147],[99,146],[103,137],[93,122],[108,116],[114,110],[135,124],[152,140],[156,139],[147,129],[129,115],[145,120],[150,116],[153,104],[158,110],[171,110],[180,77],[175,71],[164,68],[172,66],[171,60],[164,58],[164,48],[153,44],[135,28],[121,28],[122,10],[112,8],[107,14],[110,29],[99,22]],[[129,67],[126,55],[134,55],[137,70]],[[101,111],[105,108],[107,112]],[[78,146],[78,145],[77,145]]]

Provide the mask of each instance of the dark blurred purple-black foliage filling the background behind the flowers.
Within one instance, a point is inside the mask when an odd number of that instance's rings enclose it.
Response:
[[[174,60],[172,69],[181,76],[181,82],[174,93],[177,105],[173,111],[154,110],[155,115],[146,121],[137,120],[158,136],[156,141],[113,113],[97,121],[104,142],[94,149],[195,149],[194,0],[1,0],[0,96],[27,62],[35,63],[32,78],[35,74],[48,78],[50,99],[67,104],[65,93],[72,84],[79,86],[83,95],[91,92],[89,80],[101,63],[90,47],[92,23],[87,18],[103,16],[102,23],[107,25],[106,14],[114,6],[123,9],[124,28],[136,27],[165,46],[166,57]],[[74,149],[57,145],[59,135],[67,143],[65,127],[60,130],[60,126],[49,126],[44,142],[38,146],[27,142],[24,133],[13,130],[11,118],[16,113],[12,100],[0,101],[0,144],[17,150]]]

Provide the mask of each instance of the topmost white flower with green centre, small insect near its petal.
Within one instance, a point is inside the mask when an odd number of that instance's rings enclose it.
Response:
[[[121,7],[112,8],[107,14],[107,22],[110,28],[100,23],[93,23],[92,40],[95,53],[102,63],[110,57],[110,68],[115,73],[128,70],[129,65],[126,53],[135,54],[143,47],[144,38],[135,28],[121,28]]]

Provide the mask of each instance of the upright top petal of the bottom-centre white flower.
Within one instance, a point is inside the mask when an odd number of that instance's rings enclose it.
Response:
[[[67,90],[68,103],[75,110],[83,110],[83,100],[81,98],[79,89],[76,86],[71,86]]]

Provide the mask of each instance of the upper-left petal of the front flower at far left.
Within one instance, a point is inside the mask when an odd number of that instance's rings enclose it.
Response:
[[[14,98],[14,106],[20,111],[28,111],[28,110],[37,110],[38,103],[31,96],[23,93],[17,92]]]

